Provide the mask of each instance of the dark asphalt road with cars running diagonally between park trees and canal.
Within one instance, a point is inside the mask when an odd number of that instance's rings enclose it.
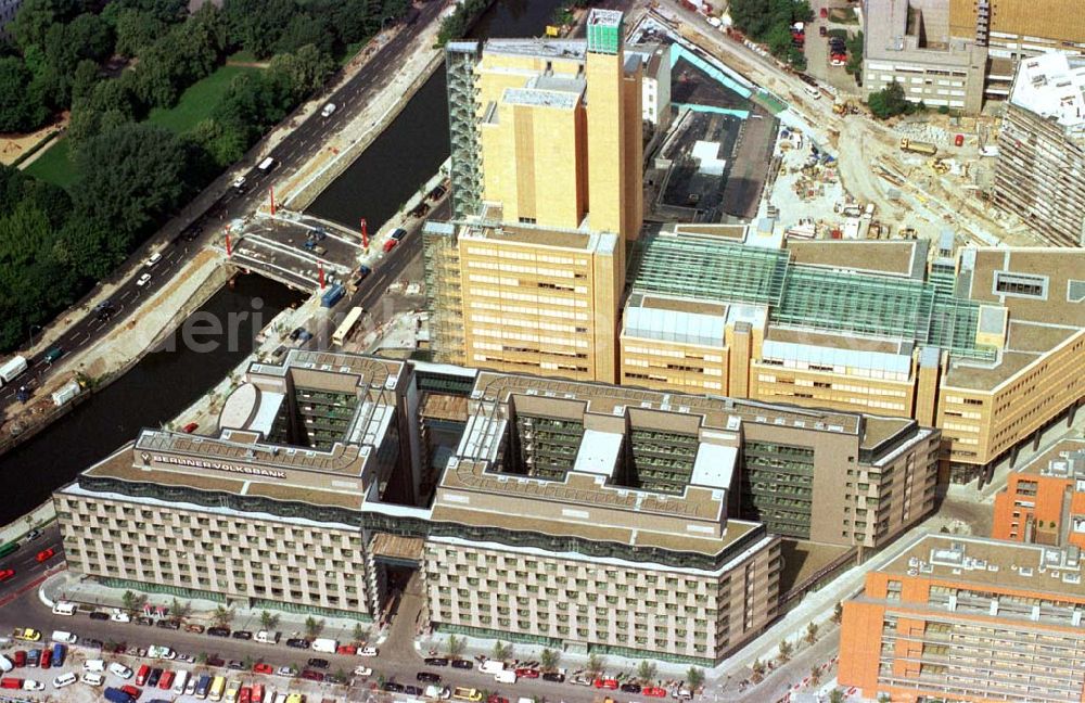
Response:
[[[107,320],[99,320],[94,311],[88,312],[73,322],[50,349],[59,347],[67,355],[87,347],[126,319],[132,310],[139,307],[145,296],[153,293],[170,278],[190,253],[199,251],[210,237],[209,230],[214,229],[209,226],[210,222],[228,222],[252,213],[258,203],[266,197],[268,187],[276,179],[295,172],[320,151],[328,135],[347,125],[366,103],[374,98],[380,87],[398,69],[403,52],[411,39],[422,27],[435,20],[443,7],[442,2],[424,3],[421,8],[421,14],[414,23],[401,29],[391,41],[376,50],[362,71],[332,93],[327,102],[335,103],[337,108],[330,117],[322,117],[318,111],[308,119],[296,125],[293,131],[269,152],[259,152],[258,146],[251,151],[245,156],[245,161],[251,166],[248,171],[244,174],[244,191],[225,187],[224,177],[209,186],[208,191],[224,188],[227,188],[227,191],[183,229],[182,235],[174,240],[173,246],[161,250],[162,260],[151,268],[139,267],[129,278],[120,282],[111,297],[115,306],[113,315]],[[291,118],[292,126],[296,119],[296,117]],[[256,168],[256,164],[267,156],[275,158],[277,164],[268,171],[260,171]],[[139,253],[139,257],[145,258],[150,253],[151,250],[143,251]],[[138,285],[138,280],[143,273],[150,273],[151,279],[145,284]],[[63,319],[75,314],[76,309],[73,308],[60,317]],[[40,332],[40,329],[31,328],[31,332]],[[31,342],[31,340],[27,341]],[[48,375],[52,369],[52,365],[44,361],[47,353],[48,349],[28,358],[29,368],[26,372],[0,388],[0,408],[15,401],[15,393],[20,386],[33,389],[41,384],[42,378]]]

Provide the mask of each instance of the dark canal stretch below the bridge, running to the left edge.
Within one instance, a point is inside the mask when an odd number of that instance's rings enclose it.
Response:
[[[135,439],[140,429],[157,427],[192,405],[248,356],[258,328],[302,299],[268,279],[237,277],[233,287],[224,286],[193,314],[220,320],[225,329],[237,320],[235,344],[224,335],[214,350],[196,350],[178,338],[174,350],[148,354],[123,378],[0,456],[0,525],[39,506],[80,471]]]

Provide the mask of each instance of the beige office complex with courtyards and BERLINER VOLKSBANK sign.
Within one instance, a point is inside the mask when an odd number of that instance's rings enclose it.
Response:
[[[776,616],[781,535],[877,547],[935,497],[911,420],[344,354],[252,365],[219,424],[58,490],[69,568],[359,619],[409,568],[438,629],[713,664]]]

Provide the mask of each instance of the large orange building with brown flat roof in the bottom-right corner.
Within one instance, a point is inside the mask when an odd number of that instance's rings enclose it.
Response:
[[[1082,571],[1077,547],[920,536],[844,603],[838,680],[894,702],[1081,701]]]

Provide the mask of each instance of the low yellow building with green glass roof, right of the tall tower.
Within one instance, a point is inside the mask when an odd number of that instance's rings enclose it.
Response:
[[[1082,270],[1081,250],[946,259],[923,240],[676,226],[634,253],[620,383],[911,417],[971,481],[1085,398]]]

